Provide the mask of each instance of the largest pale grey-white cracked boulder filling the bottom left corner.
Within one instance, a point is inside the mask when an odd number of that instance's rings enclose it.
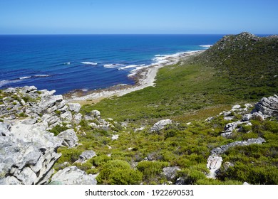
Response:
[[[0,136],[0,184],[44,184],[61,154],[61,140],[38,124],[10,124]]]

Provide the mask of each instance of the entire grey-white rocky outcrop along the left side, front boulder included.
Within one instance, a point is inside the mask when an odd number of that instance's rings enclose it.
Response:
[[[61,156],[57,154],[58,147],[78,145],[73,129],[58,136],[48,131],[57,125],[71,128],[82,119],[78,113],[80,104],[67,105],[63,96],[53,95],[54,92],[34,86],[1,90],[0,184],[46,184]],[[83,154],[82,161],[88,156]],[[79,175],[81,181],[88,181],[88,176]]]

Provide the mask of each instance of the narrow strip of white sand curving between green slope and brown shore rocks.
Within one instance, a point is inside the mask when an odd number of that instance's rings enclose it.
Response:
[[[107,97],[112,97],[112,96],[122,96],[125,94],[128,94],[130,92],[136,91],[136,90],[141,90],[145,87],[154,87],[155,86],[155,77],[156,74],[158,73],[158,70],[160,68],[163,68],[165,65],[173,65],[177,63],[180,60],[185,60],[189,58],[192,55],[197,55],[202,53],[204,50],[198,50],[198,51],[192,51],[188,53],[177,53],[175,55],[169,55],[163,62],[157,63],[155,65],[150,65],[148,68],[145,68],[146,70],[140,75],[143,75],[144,78],[139,80],[139,85],[135,85],[133,87],[129,87],[126,89],[121,89],[121,90],[113,90],[113,91],[108,91],[108,90],[103,90],[103,91],[96,91],[93,92],[89,95],[85,95],[82,97],[76,97],[76,96],[71,96],[71,98],[67,99],[67,102],[84,102],[84,101],[91,101],[91,102],[99,102],[101,99],[107,98]],[[144,74],[143,74],[144,73]],[[82,104],[82,103],[81,103]]]

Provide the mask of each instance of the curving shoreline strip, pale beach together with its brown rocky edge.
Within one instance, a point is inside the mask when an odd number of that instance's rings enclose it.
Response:
[[[154,87],[155,77],[160,68],[163,68],[166,65],[176,64],[180,60],[185,60],[204,51],[205,50],[194,50],[183,53],[175,53],[174,55],[166,56],[165,60],[163,60],[161,63],[155,63],[153,65],[141,68],[140,70],[137,70],[133,75],[130,75],[130,78],[133,78],[133,80],[135,80],[135,85],[115,85],[105,89],[91,90],[88,92],[76,90],[73,92],[68,92],[63,96],[66,99],[67,103],[74,102],[83,105],[97,103],[100,102],[102,99],[108,97],[120,97],[130,92],[142,90],[145,87]]]

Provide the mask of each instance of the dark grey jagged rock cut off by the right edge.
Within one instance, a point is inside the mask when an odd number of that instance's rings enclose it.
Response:
[[[267,116],[278,116],[278,96],[263,97],[257,104],[255,104],[257,112],[262,112]]]

